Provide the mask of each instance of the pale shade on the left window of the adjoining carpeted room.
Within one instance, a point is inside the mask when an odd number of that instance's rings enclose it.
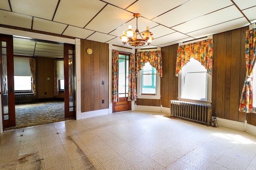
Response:
[[[29,58],[14,57],[14,76],[31,76]]]

